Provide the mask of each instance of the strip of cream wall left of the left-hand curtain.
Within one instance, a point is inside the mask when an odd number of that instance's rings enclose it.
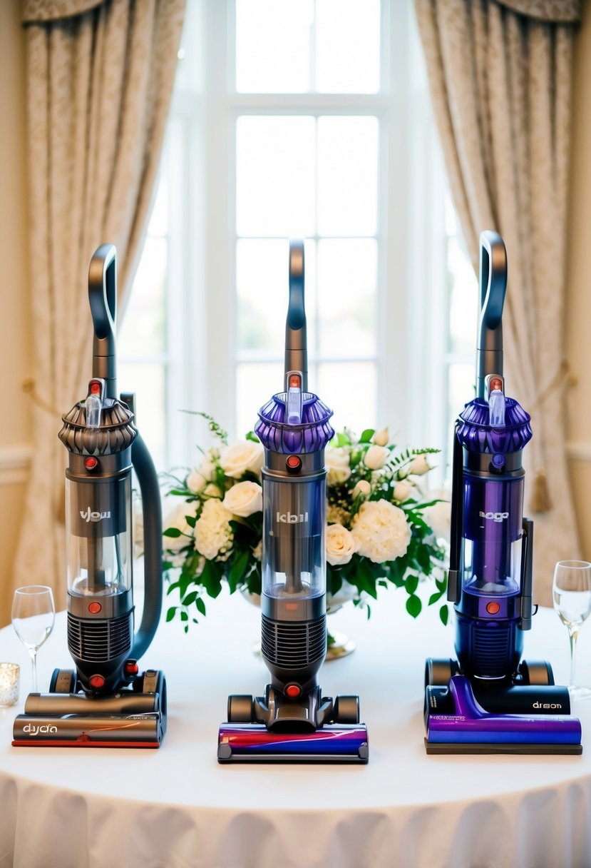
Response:
[[[24,36],[19,0],[0,2],[0,624],[14,555],[30,455],[32,372],[25,162]],[[42,576],[19,576],[23,584]]]

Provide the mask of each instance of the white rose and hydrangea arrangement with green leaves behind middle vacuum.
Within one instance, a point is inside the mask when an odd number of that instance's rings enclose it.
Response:
[[[184,477],[169,477],[174,484],[167,492],[182,498],[164,530],[168,593],[179,595],[167,619],[179,613],[185,630],[195,615],[205,615],[205,595],[218,596],[222,582],[231,592],[261,593],[263,445],[250,433],[229,446],[224,431],[205,418],[218,445]],[[448,507],[438,508],[438,498],[425,497],[419,486],[419,477],[431,470],[428,456],[437,450],[397,450],[388,441],[387,429],[368,429],[360,437],[346,430],[325,452],[328,598],[347,582],[354,602],[366,605],[380,587],[394,585],[406,590],[406,609],[416,617],[422,579],[434,580],[429,604],[445,593],[445,549],[429,513],[438,514],[441,524]],[[445,603],[439,615],[445,623]]]

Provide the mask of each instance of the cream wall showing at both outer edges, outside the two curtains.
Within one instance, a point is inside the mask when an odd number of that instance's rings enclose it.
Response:
[[[0,0],[0,624],[14,556],[30,454],[32,373],[26,250],[25,49],[19,0]],[[583,555],[591,560],[591,0],[575,49],[573,165],[568,232],[566,355],[576,385],[568,394],[568,454]],[[40,541],[42,545],[42,541]],[[23,575],[23,582],[42,576]]]

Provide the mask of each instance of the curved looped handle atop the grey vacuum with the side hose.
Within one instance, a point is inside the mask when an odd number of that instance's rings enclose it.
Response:
[[[88,300],[94,325],[93,378],[105,380],[106,398],[117,398],[117,251],[114,244],[101,244],[90,260]]]

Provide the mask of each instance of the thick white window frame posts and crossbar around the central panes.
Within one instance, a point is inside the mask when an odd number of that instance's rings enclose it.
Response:
[[[378,416],[368,424],[388,424],[399,444],[443,448],[445,173],[425,77],[416,75],[420,61],[413,52],[420,49],[418,38],[411,38],[411,0],[381,0],[381,81],[393,83],[390,92],[376,95],[237,93],[231,64],[233,11],[233,0],[188,0],[185,34],[190,32],[191,39],[181,64],[195,69],[185,76],[192,78],[192,86],[175,88],[172,99],[163,167],[170,179],[170,464],[195,464],[196,444],[208,443],[203,420],[179,415],[181,408],[206,411],[231,438],[244,436],[236,431],[235,418],[235,129],[237,116],[248,113],[353,112],[379,118],[380,179],[387,195],[377,229]],[[253,417],[256,411],[254,407]],[[439,478],[445,477],[441,471]]]

